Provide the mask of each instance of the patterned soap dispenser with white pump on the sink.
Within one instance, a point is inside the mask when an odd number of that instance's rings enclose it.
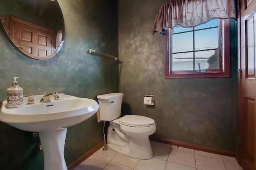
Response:
[[[7,107],[10,108],[23,106],[23,88],[18,86],[16,78],[13,77],[12,86],[7,89]]]

